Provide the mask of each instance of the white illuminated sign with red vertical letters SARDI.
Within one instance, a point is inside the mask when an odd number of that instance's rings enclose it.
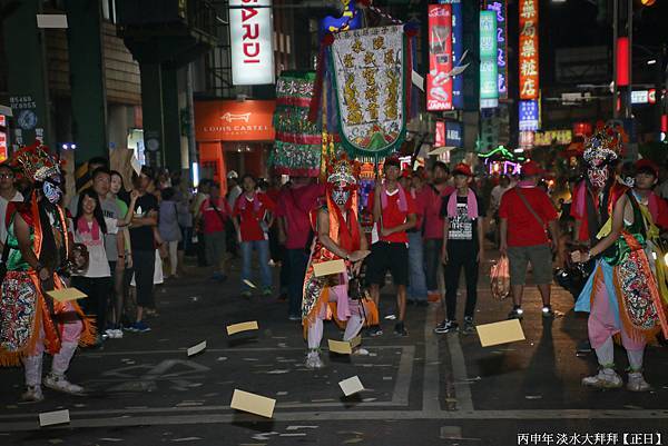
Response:
[[[229,0],[232,80],[235,86],[274,83],[271,0]]]

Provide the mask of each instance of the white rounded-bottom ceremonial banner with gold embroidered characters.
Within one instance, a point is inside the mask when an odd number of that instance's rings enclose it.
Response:
[[[341,145],[352,158],[380,159],[406,132],[410,57],[403,26],[334,36],[331,80]]]

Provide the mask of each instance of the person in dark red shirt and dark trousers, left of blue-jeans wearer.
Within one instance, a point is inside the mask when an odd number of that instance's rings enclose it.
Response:
[[[206,260],[214,268],[214,280],[227,280],[227,244],[225,225],[232,217],[232,210],[225,197],[220,196],[220,186],[210,185],[209,198],[199,207],[204,226]]]

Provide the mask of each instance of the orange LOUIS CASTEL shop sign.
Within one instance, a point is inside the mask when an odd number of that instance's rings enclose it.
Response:
[[[197,141],[273,141],[276,102],[219,100],[195,102]]]

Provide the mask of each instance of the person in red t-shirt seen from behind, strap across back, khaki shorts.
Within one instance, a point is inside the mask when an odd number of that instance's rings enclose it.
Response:
[[[537,162],[525,162],[522,166],[522,181],[501,198],[500,251],[503,256],[508,255],[510,261],[510,284],[514,304],[509,318],[522,318],[522,294],[529,262],[542,297],[542,315],[554,316],[550,307],[550,284],[552,251],[557,249],[556,244],[559,240],[558,215],[550,197],[537,187],[542,171]],[[546,226],[550,228],[551,241],[546,235]]]

